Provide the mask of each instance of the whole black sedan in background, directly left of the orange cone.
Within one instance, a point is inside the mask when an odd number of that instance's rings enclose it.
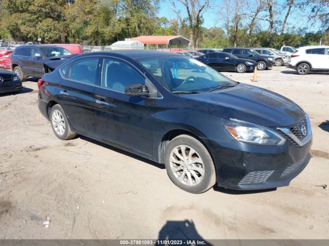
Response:
[[[198,57],[197,60],[220,72],[253,72],[257,66],[254,60],[238,58],[226,52],[212,52]]]

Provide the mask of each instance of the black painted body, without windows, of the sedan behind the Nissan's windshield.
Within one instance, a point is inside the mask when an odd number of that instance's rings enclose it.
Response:
[[[230,56],[231,54],[226,52],[213,52],[213,53],[221,54],[221,55],[227,54],[226,57],[228,57],[229,59],[207,57],[209,54],[205,54],[196,59],[202,61],[204,64],[207,64],[208,66],[220,72],[224,72],[224,71],[235,72],[236,66],[241,63],[246,65],[246,72],[253,72],[255,66],[257,66],[255,61],[251,59],[233,58]],[[247,64],[246,63],[247,61],[249,61],[249,63],[252,63],[252,65]]]

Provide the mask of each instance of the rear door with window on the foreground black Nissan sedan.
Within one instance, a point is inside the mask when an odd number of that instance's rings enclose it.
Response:
[[[99,60],[97,56],[87,56],[67,65],[69,69],[65,66],[67,72],[60,84],[61,106],[70,124],[75,131],[88,137],[96,136],[94,105]]]

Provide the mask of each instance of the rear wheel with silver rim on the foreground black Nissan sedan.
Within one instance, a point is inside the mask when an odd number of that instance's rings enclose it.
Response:
[[[49,119],[52,131],[59,139],[68,140],[77,135],[71,131],[66,114],[60,105],[56,104],[51,108]]]

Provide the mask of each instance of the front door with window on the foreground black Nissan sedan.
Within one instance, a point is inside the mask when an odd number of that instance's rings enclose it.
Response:
[[[157,99],[125,95],[125,87],[132,84],[145,84],[144,75],[121,59],[103,59],[101,84],[95,91],[97,136],[118,147],[151,156]]]

